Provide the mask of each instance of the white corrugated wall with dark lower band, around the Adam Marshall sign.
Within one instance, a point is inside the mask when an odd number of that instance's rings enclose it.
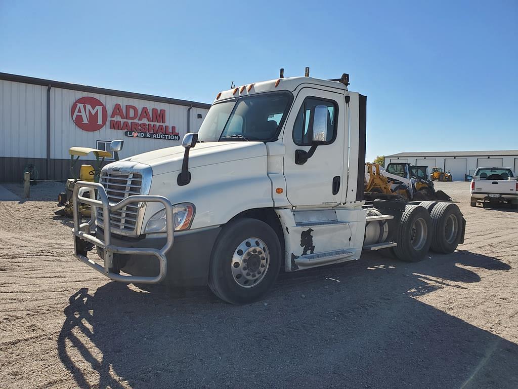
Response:
[[[55,81],[49,82],[55,83]],[[62,86],[63,83],[58,85]],[[119,156],[126,158],[141,152],[180,145],[183,135],[187,132],[189,106],[53,86],[50,89],[51,160],[47,167],[47,88],[44,85],[31,84],[30,81],[26,83],[0,80],[0,182],[21,180],[23,169],[28,163],[36,165],[40,179],[66,179],[69,177],[68,149],[73,146],[95,148],[96,141],[123,139],[124,148]],[[98,90],[98,88],[86,88]],[[128,92],[121,93],[135,95]],[[84,96],[94,97],[106,107],[108,120],[98,131],[83,131],[72,119],[72,105]],[[153,108],[164,109],[166,122],[163,124],[175,126],[180,140],[133,138],[124,136],[124,131],[110,129],[110,116],[116,104],[121,104],[123,109],[126,105],[133,105],[139,111],[142,107],[147,107],[150,113]],[[204,106],[200,103],[194,104]],[[199,107],[193,107],[190,110],[191,132],[199,130],[207,112],[208,109]],[[198,114],[202,115],[201,119],[197,117]],[[119,117],[113,119],[123,120]]]

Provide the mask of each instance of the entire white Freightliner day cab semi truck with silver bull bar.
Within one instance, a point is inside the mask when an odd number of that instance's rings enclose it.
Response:
[[[465,230],[455,204],[364,201],[366,96],[348,90],[347,74],[307,75],[220,92],[183,147],[76,183],[76,258],[112,280],[208,284],[239,304],[263,297],[281,268],[363,250],[389,248],[404,261],[453,252]],[[93,207],[88,223],[80,203]]]

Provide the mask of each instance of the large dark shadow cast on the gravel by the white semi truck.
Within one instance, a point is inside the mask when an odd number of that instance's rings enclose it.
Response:
[[[479,282],[470,268],[510,266],[367,255],[283,274],[240,307],[207,289],[109,282],[70,296],[57,349],[81,388],[518,387],[518,345],[414,298]]]

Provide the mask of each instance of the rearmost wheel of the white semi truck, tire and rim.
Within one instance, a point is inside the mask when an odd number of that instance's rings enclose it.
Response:
[[[439,203],[431,211],[433,236],[430,248],[440,254],[455,251],[462,239],[462,213],[457,204]]]

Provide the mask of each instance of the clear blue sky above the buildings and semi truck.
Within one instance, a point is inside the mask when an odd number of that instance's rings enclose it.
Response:
[[[518,148],[518,2],[0,0],[0,72],[212,102],[231,82],[351,77],[367,159]]]

